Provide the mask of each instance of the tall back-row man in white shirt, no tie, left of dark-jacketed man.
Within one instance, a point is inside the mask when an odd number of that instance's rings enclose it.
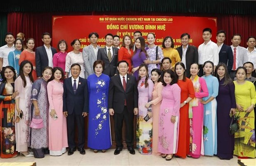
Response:
[[[211,29],[204,28],[203,30],[203,39],[204,43],[200,44],[198,47],[198,57],[199,57],[199,77],[204,75],[203,65],[206,61],[213,62],[213,69],[216,69],[216,66],[219,63],[218,55],[218,46],[216,43],[211,41]]]

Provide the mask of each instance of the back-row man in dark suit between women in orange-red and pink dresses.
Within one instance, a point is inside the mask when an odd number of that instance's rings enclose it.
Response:
[[[50,46],[52,41],[50,33],[43,33],[42,41],[43,46],[36,48],[36,75],[37,77],[42,77],[42,71],[46,66],[53,67],[52,57],[57,50]]]

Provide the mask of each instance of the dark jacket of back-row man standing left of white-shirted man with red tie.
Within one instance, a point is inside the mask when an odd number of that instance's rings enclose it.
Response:
[[[233,67],[233,52],[230,46],[223,44],[219,52],[219,63],[225,63],[228,67],[228,73]]]

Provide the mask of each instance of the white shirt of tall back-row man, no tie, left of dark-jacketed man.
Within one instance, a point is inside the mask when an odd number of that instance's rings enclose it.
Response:
[[[218,45],[211,40],[207,44],[200,44],[198,47],[199,65],[206,61],[212,61],[216,66],[219,63]]]

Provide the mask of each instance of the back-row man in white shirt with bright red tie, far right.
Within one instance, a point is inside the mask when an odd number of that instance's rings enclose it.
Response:
[[[241,43],[241,35],[240,34],[234,34],[231,38],[232,45],[230,46],[233,52],[233,67],[230,72],[230,77],[232,79],[235,78],[235,70],[237,70],[238,67],[243,66],[245,62],[248,61],[247,56],[247,50],[244,47],[239,46]]]

